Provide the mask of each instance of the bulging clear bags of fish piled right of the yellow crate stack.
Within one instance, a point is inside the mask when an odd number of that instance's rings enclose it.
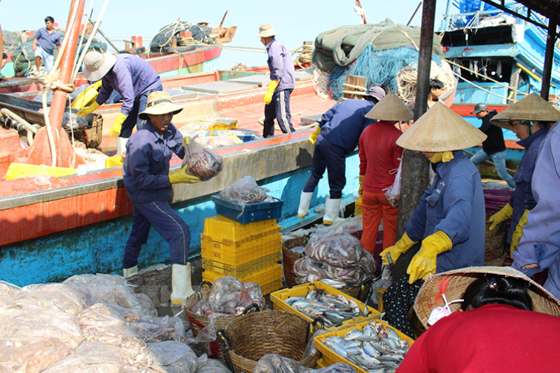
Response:
[[[323,281],[333,288],[360,286],[375,273],[375,261],[360,240],[343,230],[317,232],[293,265],[295,281]]]

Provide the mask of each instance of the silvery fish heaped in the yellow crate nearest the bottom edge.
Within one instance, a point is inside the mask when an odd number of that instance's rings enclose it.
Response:
[[[370,373],[395,372],[409,349],[393,328],[378,321],[371,321],[363,330],[350,330],[344,337],[327,335],[323,343]]]

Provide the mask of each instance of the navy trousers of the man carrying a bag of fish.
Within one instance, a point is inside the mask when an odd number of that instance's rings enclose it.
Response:
[[[123,268],[134,267],[153,225],[169,244],[171,263],[186,265],[190,246],[187,223],[167,202],[132,202],[132,228],[125,246]]]

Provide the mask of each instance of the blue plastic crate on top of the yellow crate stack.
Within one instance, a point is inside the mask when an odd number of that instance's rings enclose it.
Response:
[[[246,204],[244,209],[244,206],[221,199],[219,195],[213,195],[211,199],[214,204],[216,204],[217,213],[241,224],[248,224],[260,220],[278,219],[282,216],[282,205],[284,204],[282,199],[276,199],[274,202]]]

